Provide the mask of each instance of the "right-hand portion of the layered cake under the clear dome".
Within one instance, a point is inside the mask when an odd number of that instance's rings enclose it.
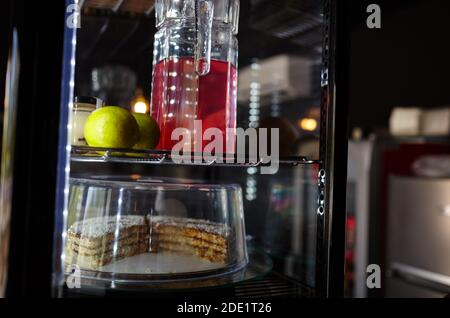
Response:
[[[193,254],[215,263],[228,259],[229,229],[206,220],[161,217],[151,218],[152,250]]]

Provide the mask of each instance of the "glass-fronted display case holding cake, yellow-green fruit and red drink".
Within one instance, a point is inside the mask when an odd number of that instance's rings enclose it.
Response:
[[[337,2],[8,2],[6,294],[342,297]]]

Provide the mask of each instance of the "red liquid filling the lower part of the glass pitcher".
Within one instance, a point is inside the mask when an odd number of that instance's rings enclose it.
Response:
[[[154,67],[152,86],[152,116],[161,130],[157,148],[171,150],[179,142],[171,140],[175,128],[193,131],[194,120],[202,120],[203,133],[208,128],[218,128],[222,133],[223,152],[234,153],[236,89],[236,67],[229,62],[212,60],[210,72],[198,76],[193,58],[160,61]],[[227,128],[233,132],[228,151],[226,145],[231,135],[227,137]],[[203,140],[201,150],[210,142]],[[195,150],[198,148],[192,145],[191,151]]]

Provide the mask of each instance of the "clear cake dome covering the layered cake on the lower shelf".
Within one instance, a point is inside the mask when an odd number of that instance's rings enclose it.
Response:
[[[66,275],[88,287],[190,286],[248,263],[238,185],[178,179],[70,179]]]

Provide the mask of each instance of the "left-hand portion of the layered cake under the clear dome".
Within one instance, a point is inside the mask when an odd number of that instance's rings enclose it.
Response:
[[[96,270],[125,257],[149,251],[144,216],[97,217],[75,222],[67,232],[66,264]]]

